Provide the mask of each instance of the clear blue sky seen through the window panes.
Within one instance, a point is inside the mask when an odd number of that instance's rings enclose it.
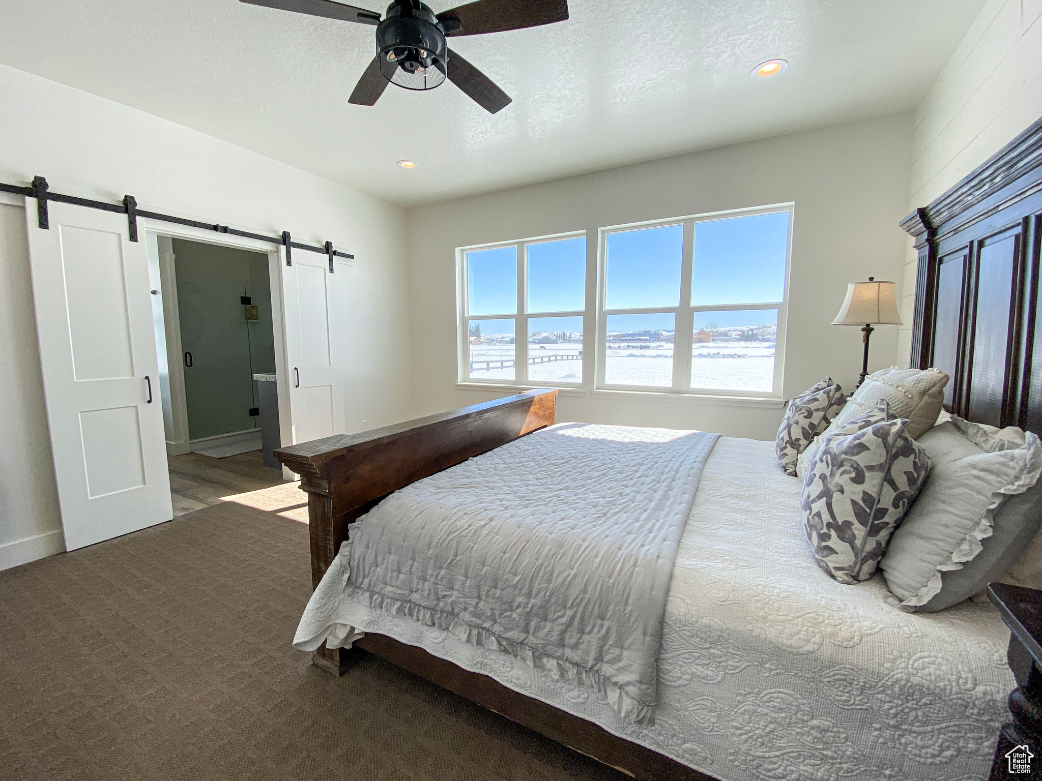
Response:
[[[726,308],[727,304],[780,301],[788,231],[789,215],[784,211],[696,223],[692,305]],[[676,306],[680,298],[683,238],[680,225],[609,234],[606,307]],[[526,262],[530,313],[582,309],[585,237],[529,245]],[[468,252],[467,282],[468,313],[516,313],[517,250],[498,247]],[[695,326],[711,321],[720,326],[760,325],[774,318],[773,311],[759,309],[696,312]],[[531,330],[579,330],[571,327],[575,321],[555,321],[534,324]],[[607,327],[672,330],[673,316],[613,316]],[[482,330],[492,332],[485,326]]]

